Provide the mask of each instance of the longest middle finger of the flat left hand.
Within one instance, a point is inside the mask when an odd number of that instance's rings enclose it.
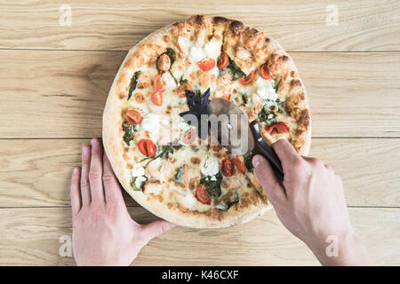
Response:
[[[91,170],[89,171],[89,183],[91,185],[92,203],[104,204],[103,192],[103,146],[98,138],[92,138]]]

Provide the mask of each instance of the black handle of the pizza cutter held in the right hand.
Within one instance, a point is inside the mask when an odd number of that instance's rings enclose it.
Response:
[[[271,146],[269,146],[265,139],[262,137],[260,123],[257,121],[253,121],[249,125],[250,129],[252,130],[252,136],[254,137],[255,142],[252,154],[263,155],[272,166],[272,169],[275,170],[276,177],[278,177],[279,182],[282,184],[282,182],[284,181],[284,169],[282,169],[282,163],[276,155],[275,150]]]

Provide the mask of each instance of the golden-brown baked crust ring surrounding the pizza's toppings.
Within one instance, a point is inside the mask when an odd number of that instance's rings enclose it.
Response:
[[[132,169],[132,165],[127,165],[125,162],[128,160],[128,154],[121,138],[123,133],[121,111],[124,109],[124,101],[127,99],[132,72],[146,64],[153,64],[166,47],[172,47],[180,53],[180,56],[184,56],[187,52],[184,46],[172,44],[179,43],[179,38],[187,37],[194,41],[202,41],[204,36],[211,34],[219,36],[219,33],[220,36],[223,36],[223,49],[229,57],[235,58],[236,53],[240,52],[243,54],[248,52],[246,55],[250,55],[251,60],[237,60],[238,65],[243,68],[245,73],[257,69],[260,64],[268,61],[271,75],[282,77],[278,93],[281,91],[289,94],[285,109],[299,122],[298,137],[289,139],[292,139],[293,146],[300,154],[308,154],[311,126],[307,93],[292,59],[273,39],[254,28],[246,27],[240,21],[203,15],[190,17],[188,20],[154,32],[128,52],[116,75],[103,114],[103,143],[116,176],[132,198],[150,212],[178,225],[199,228],[236,225],[247,222],[271,209],[265,193],[260,191],[260,184],[252,173],[249,173],[248,177],[260,194],[254,192],[249,193],[248,196],[242,196],[240,201],[233,204],[227,211],[210,209],[204,213],[190,211],[172,202],[165,203],[165,196],[163,197],[161,194],[145,195],[140,191],[133,191],[124,176],[125,169]],[[146,89],[145,86],[140,86],[140,89],[141,87]],[[143,96],[146,97],[146,93]],[[134,99],[143,100],[138,94]]]

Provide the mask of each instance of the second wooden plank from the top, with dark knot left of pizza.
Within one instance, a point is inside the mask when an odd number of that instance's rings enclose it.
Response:
[[[0,51],[0,138],[99,137],[124,55]],[[314,137],[400,137],[400,52],[292,57],[308,90]]]

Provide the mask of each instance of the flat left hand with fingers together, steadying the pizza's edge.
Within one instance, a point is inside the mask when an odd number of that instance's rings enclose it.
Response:
[[[72,247],[77,265],[129,265],[148,241],[174,225],[139,225],[130,217],[100,140],[82,148],[71,179]]]

